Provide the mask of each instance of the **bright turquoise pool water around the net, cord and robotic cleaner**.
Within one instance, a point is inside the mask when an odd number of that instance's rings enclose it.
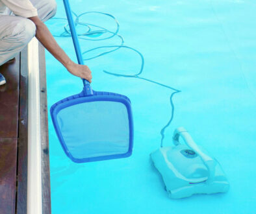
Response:
[[[65,18],[57,1],[57,18]],[[133,104],[134,151],[130,158],[77,164],[62,150],[49,118],[51,202],[53,214],[130,213],[253,213],[256,139],[256,3],[216,1],[71,1],[77,14],[99,11],[120,23],[124,45],[144,56],[139,77],[125,78],[105,71],[134,75],[141,58],[130,49],[119,49],[86,62],[93,74],[92,87],[127,95]],[[81,21],[109,30],[115,23],[100,14]],[[47,25],[53,34],[63,32],[65,20]],[[83,26],[79,27],[83,32]],[[99,35],[96,35],[99,36]],[[101,35],[106,36],[106,34]],[[101,38],[90,37],[91,39]],[[75,60],[71,38],[56,38]],[[81,40],[83,51],[119,45],[120,38]],[[90,58],[109,49],[97,49]],[[48,107],[83,87],[62,65],[46,53]],[[142,78],[153,80],[148,82]],[[184,126],[194,140],[220,161],[231,184],[229,192],[171,200],[164,191],[149,154],[172,145],[173,130]]]

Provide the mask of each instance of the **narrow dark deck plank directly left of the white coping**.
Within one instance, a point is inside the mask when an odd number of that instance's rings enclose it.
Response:
[[[17,214],[27,213],[27,155],[28,155],[28,64],[27,47],[21,52],[20,83],[19,83],[19,132],[18,132],[18,189],[16,193]]]

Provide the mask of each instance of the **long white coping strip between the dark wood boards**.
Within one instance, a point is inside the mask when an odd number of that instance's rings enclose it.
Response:
[[[42,214],[40,73],[36,38],[28,45],[28,89],[27,213]]]

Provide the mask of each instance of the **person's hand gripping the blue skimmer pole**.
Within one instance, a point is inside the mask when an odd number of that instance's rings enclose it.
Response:
[[[85,78],[89,82],[92,82],[92,71],[90,71],[87,65],[79,65],[72,62],[71,65],[67,66],[67,69],[72,75]]]

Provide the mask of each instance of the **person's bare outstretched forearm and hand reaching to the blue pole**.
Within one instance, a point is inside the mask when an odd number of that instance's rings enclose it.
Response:
[[[29,19],[31,19],[31,21],[36,25],[36,38],[42,43],[42,45],[44,45],[45,49],[47,49],[49,53],[53,54],[53,56],[57,58],[57,60],[62,63],[62,65],[64,65],[72,75],[85,78],[89,82],[92,82],[92,74],[88,66],[75,64],[75,62],[73,62],[58,45],[51,32],[49,32],[46,25],[38,18],[38,16],[34,16]]]

